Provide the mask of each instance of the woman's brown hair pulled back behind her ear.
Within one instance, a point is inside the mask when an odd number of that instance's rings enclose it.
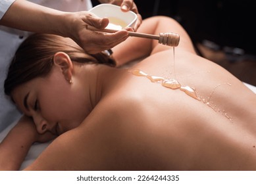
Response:
[[[18,47],[9,66],[4,85],[5,94],[10,96],[18,85],[47,76],[53,66],[53,56],[59,51],[66,53],[72,62],[115,66],[115,60],[107,54],[89,55],[70,38],[32,34]]]

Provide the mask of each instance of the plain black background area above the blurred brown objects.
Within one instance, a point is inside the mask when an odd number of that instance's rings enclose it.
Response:
[[[182,24],[194,42],[238,47],[256,55],[256,1],[135,0],[142,18],[165,15]],[[93,5],[97,5],[93,1]],[[221,49],[221,48],[220,48]]]

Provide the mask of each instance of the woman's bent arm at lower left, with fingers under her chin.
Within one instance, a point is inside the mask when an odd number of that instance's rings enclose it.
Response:
[[[19,170],[34,142],[46,142],[53,137],[50,133],[39,135],[32,119],[22,116],[0,143],[0,170]]]

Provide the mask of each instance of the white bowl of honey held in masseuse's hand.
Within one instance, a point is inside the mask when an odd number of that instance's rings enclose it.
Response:
[[[109,18],[109,25],[107,28],[113,30],[121,30],[126,27],[133,28],[137,20],[136,13],[132,11],[122,12],[120,7],[107,3],[93,7],[90,9],[90,12],[101,18]]]

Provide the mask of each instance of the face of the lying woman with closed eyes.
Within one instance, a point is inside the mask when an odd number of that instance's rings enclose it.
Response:
[[[63,71],[53,66],[47,77],[28,81],[13,90],[14,102],[33,118],[38,133],[51,131],[60,135],[79,126],[90,113],[86,90],[80,90],[78,82],[72,80],[70,83]]]

